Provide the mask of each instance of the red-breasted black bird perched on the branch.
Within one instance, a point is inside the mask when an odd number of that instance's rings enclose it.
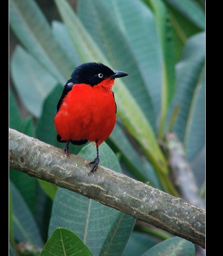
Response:
[[[99,165],[99,146],[112,133],[116,123],[117,105],[112,90],[115,79],[126,77],[124,71],[113,71],[101,62],[83,63],[74,69],[57,103],[54,124],[57,141],[66,143],[64,153],[70,154],[69,143],[95,143],[97,156],[88,174]],[[87,166],[86,165],[86,166]]]

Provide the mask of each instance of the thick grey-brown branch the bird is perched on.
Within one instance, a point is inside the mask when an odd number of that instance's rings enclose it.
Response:
[[[9,128],[9,167],[54,183],[205,248],[205,210]]]

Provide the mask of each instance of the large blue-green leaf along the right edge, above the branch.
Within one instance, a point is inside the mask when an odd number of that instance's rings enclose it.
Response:
[[[191,160],[205,144],[205,33],[188,40],[176,74],[174,105],[180,104],[181,108],[174,131]]]

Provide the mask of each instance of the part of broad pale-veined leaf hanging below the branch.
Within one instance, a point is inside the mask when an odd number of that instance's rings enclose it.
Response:
[[[119,212],[93,199],[58,188],[53,201],[48,236],[54,229],[69,229],[97,255]]]

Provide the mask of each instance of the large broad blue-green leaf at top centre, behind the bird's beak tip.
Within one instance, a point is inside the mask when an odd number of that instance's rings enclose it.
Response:
[[[155,130],[162,64],[151,11],[139,0],[79,1],[77,7],[80,20],[112,66],[130,74],[124,81]]]

